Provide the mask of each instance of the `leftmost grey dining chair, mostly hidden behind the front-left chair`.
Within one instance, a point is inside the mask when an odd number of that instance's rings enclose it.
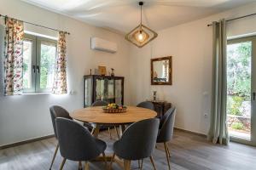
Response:
[[[61,106],[58,106],[58,105],[51,106],[49,108],[49,112],[50,112],[52,126],[53,126],[54,132],[55,132],[55,138],[58,139],[57,132],[56,132],[56,126],[55,126],[55,118],[57,118],[57,117],[64,117],[64,118],[67,118],[67,119],[72,119],[72,117],[69,116],[68,111],[66,111],[64,108],[62,108]],[[51,167],[52,167],[52,165],[53,165],[53,163],[55,161],[55,156],[56,156],[58,150],[59,150],[59,144],[57,144],[57,146],[56,146],[55,154],[54,154],[54,156],[52,158],[52,161],[51,161],[49,169],[51,169]]]

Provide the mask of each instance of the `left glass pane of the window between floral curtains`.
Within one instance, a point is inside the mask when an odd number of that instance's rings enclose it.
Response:
[[[32,88],[32,41],[23,41],[23,88]]]

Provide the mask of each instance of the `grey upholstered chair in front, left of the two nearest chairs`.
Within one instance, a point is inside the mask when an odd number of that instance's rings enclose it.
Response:
[[[63,168],[67,159],[85,161],[84,169],[89,169],[88,161],[95,159],[101,154],[105,158],[106,163],[104,150],[106,150],[107,144],[104,141],[94,138],[87,128],[73,120],[56,118],[55,123],[61,156],[63,157],[60,169]]]

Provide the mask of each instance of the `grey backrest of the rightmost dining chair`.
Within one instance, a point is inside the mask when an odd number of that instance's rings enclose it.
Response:
[[[172,139],[175,116],[175,107],[172,107],[166,111],[166,114],[160,121],[160,132],[158,133],[157,143],[168,142]]]

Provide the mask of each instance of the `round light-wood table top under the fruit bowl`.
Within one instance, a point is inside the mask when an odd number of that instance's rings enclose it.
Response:
[[[102,106],[97,106],[73,111],[70,116],[81,122],[123,124],[153,118],[157,116],[157,113],[149,109],[134,106],[128,106],[125,113],[104,113]]]

